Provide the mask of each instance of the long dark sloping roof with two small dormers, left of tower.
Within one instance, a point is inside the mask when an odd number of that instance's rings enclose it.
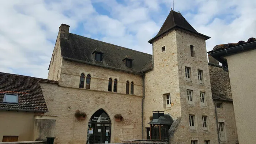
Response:
[[[136,50],[124,48],[110,43],[83,37],[69,33],[68,39],[60,38],[61,56],[66,60],[83,62],[99,67],[111,68],[125,72],[142,74],[144,65],[152,60],[152,55]],[[96,61],[93,57],[95,49],[103,54],[102,61]],[[123,59],[132,57],[132,68],[125,66]]]

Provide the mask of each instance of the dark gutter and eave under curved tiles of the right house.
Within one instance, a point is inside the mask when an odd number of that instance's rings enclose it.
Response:
[[[210,56],[212,56],[213,58],[215,58],[216,60],[222,63],[222,68],[224,71],[228,71],[227,60],[223,56],[229,56],[234,53],[239,53],[239,52],[242,52],[245,50],[251,50],[251,49],[256,49],[256,41],[251,43],[246,43],[240,46],[235,46],[228,49],[219,50],[217,52],[211,51],[212,53],[209,53],[209,54]]]

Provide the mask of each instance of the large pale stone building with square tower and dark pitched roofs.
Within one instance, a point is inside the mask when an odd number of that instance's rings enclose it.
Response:
[[[163,120],[171,124],[169,143],[234,144],[229,77],[216,60],[207,62],[209,38],[173,10],[148,41],[153,55],[69,33],[61,24],[48,68],[51,83],[38,82],[43,113],[56,120],[55,143],[150,139],[148,124]],[[165,114],[152,122],[152,111]]]

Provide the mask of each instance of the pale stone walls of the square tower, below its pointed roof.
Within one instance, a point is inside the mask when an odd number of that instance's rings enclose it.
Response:
[[[195,48],[191,57],[190,45]],[[165,51],[161,48],[165,46]],[[204,39],[174,30],[153,43],[154,68],[145,76],[145,123],[152,110],[163,110],[174,120],[181,117],[170,143],[191,143],[197,140],[218,142],[214,104]],[[191,78],[185,78],[185,67],[191,68]],[[203,71],[203,83],[197,79],[197,70]],[[193,103],[188,104],[187,90],[192,90]],[[205,93],[206,105],[200,105],[200,92]],[[172,106],[165,107],[163,94],[170,93]],[[195,115],[196,130],[189,128],[189,114]],[[208,130],[202,128],[202,116],[207,116]],[[148,127],[147,125],[145,125]],[[184,135],[186,137],[184,137]]]

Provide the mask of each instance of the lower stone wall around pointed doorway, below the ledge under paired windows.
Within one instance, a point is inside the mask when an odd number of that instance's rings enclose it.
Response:
[[[86,144],[89,119],[98,109],[105,110],[112,122],[111,143],[120,143],[126,138],[141,139],[142,96],[48,83],[42,83],[41,87],[49,110],[46,114],[57,116],[56,144]],[[85,112],[86,120],[77,120],[74,116],[76,110]],[[123,115],[123,121],[114,120],[117,113]]]

